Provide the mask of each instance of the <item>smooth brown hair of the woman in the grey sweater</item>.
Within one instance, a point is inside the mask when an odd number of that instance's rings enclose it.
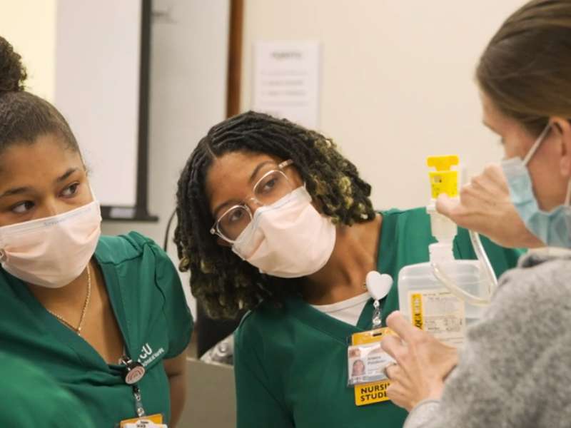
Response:
[[[532,0],[515,11],[487,45],[476,78],[532,134],[550,116],[571,118],[571,1]]]

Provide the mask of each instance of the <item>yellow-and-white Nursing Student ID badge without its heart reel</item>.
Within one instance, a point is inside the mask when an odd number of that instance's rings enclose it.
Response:
[[[395,335],[395,332],[381,327],[351,335],[347,350],[348,386],[355,389],[356,406],[388,400],[390,380],[385,375],[385,367],[395,360],[380,346],[387,335]]]

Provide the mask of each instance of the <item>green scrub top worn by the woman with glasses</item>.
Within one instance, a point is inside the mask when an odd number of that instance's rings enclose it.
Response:
[[[383,325],[398,309],[398,272],[406,265],[428,261],[430,219],[424,208],[381,213],[379,272],[394,284],[381,302]],[[497,275],[514,267],[520,250],[482,243]],[[475,259],[467,230],[454,241],[458,259]],[[262,303],[249,312],[236,330],[235,370],[238,428],[355,428],[402,427],[407,413],[392,402],[355,406],[347,387],[348,337],[370,330],[373,300],[357,326],[336,320],[290,297],[277,307]]]

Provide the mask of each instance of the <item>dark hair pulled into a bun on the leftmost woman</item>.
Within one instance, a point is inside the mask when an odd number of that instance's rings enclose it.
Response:
[[[13,143],[34,143],[49,133],[79,152],[64,116],[48,101],[24,90],[26,77],[21,56],[0,37],[0,152]]]

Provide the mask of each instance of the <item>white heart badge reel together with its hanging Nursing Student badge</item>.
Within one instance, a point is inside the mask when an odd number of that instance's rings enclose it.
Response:
[[[386,335],[393,332],[382,325],[380,300],[383,300],[393,285],[390,275],[379,272],[369,272],[365,284],[371,297],[373,297],[372,330],[358,332],[350,337],[348,347],[348,387],[355,389],[355,404],[357,406],[373,404],[388,400],[386,388],[388,379],[385,367],[394,362],[380,346]]]

